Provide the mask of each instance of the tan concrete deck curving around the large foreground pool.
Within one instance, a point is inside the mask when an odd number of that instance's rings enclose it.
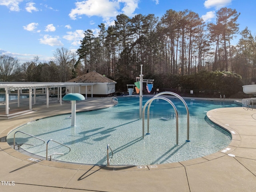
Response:
[[[0,119],[1,192],[256,191],[256,109],[220,108],[207,113],[210,120],[232,134],[230,145],[214,154],[170,164],[107,167],[36,160],[11,148],[5,138],[14,128],[71,112],[70,102],[60,106],[52,99],[49,108],[43,101],[37,103],[32,113]],[[113,104],[111,98],[88,98],[77,102],[77,111]]]

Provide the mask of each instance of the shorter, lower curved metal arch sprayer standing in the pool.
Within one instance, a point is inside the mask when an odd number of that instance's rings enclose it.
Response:
[[[172,107],[174,108],[175,110],[175,114],[176,114],[176,145],[178,145],[178,140],[179,140],[179,128],[178,128],[178,112],[177,112],[177,109],[175,107],[175,105],[167,98],[165,97],[161,97],[161,96],[158,96],[158,97],[152,97],[151,99],[149,99],[144,107],[143,107],[143,110],[142,110],[142,138],[144,138],[144,122],[145,122],[145,110],[146,110],[146,106],[150,103],[152,103],[153,100],[156,100],[156,99],[162,99],[162,100],[165,100],[167,101],[168,103],[170,103],[172,105]],[[148,114],[149,114],[149,110],[150,110],[150,104],[148,105]],[[148,122],[149,122],[149,116],[148,116]],[[148,134],[149,134],[149,126],[148,126]]]

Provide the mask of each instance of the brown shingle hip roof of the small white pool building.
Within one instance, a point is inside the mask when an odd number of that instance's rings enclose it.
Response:
[[[114,80],[111,80],[110,78],[107,78],[106,76],[103,76],[96,71],[91,71],[89,73],[80,75],[72,80],[69,80],[68,82],[83,82],[83,83],[106,83],[106,82],[112,82],[116,83]]]

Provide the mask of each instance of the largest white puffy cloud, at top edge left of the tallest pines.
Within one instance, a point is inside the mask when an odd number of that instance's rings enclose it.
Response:
[[[81,15],[99,16],[106,23],[111,23],[121,13],[134,16],[134,11],[138,8],[138,0],[83,0],[76,2],[75,6],[76,8],[69,14],[71,19]]]

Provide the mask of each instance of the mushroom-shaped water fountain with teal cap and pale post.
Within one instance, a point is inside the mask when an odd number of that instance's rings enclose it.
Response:
[[[71,126],[76,125],[76,101],[84,100],[80,93],[69,93],[63,97],[63,100],[71,101]]]

